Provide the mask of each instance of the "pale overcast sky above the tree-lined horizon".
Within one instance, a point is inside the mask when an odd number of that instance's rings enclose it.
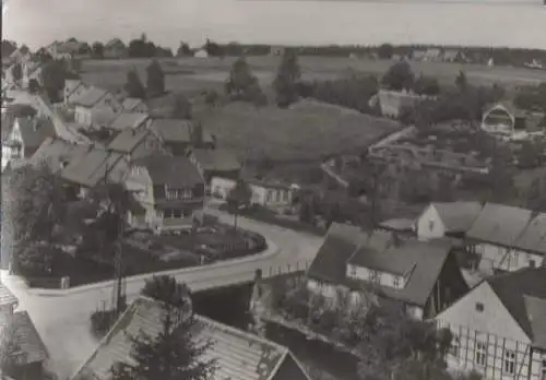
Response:
[[[32,49],[75,37],[163,46],[440,44],[546,49],[543,0],[3,0],[2,38]],[[449,2],[446,2],[449,1]],[[459,3],[455,3],[459,1]]]

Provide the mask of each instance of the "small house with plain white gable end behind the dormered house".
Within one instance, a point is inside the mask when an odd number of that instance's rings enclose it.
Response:
[[[442,237],[463,239],[483,209],[479,202],[435,202],[419,215],[415,229],[419,240]]]

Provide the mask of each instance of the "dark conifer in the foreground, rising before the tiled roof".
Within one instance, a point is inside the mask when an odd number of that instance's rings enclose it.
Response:
[[[112,380],[210,379],[216,361],[202,358],[211,342],[197,342],[192,336],[195,320],[188,287],[169,276],[154,276],[142,294],[162,301],[161,332],[157,336],[131,336],[131,358],[135,364],[115,364],[110,369]]]

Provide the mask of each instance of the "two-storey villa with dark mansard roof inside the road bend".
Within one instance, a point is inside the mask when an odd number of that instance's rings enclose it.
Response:
[[[186,157],[155,154],[132,162],[126,186],[143,212],[131,223],[156,231],[190,228],[204,205],[204,180]]]

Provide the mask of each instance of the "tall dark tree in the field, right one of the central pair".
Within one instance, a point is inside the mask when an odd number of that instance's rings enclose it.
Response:
[[[273,81],[278,107],[288,107],[298,99],[298,82],[300,78],[301,70],[296,51],[294,49],[285,49],[276,78]]]

